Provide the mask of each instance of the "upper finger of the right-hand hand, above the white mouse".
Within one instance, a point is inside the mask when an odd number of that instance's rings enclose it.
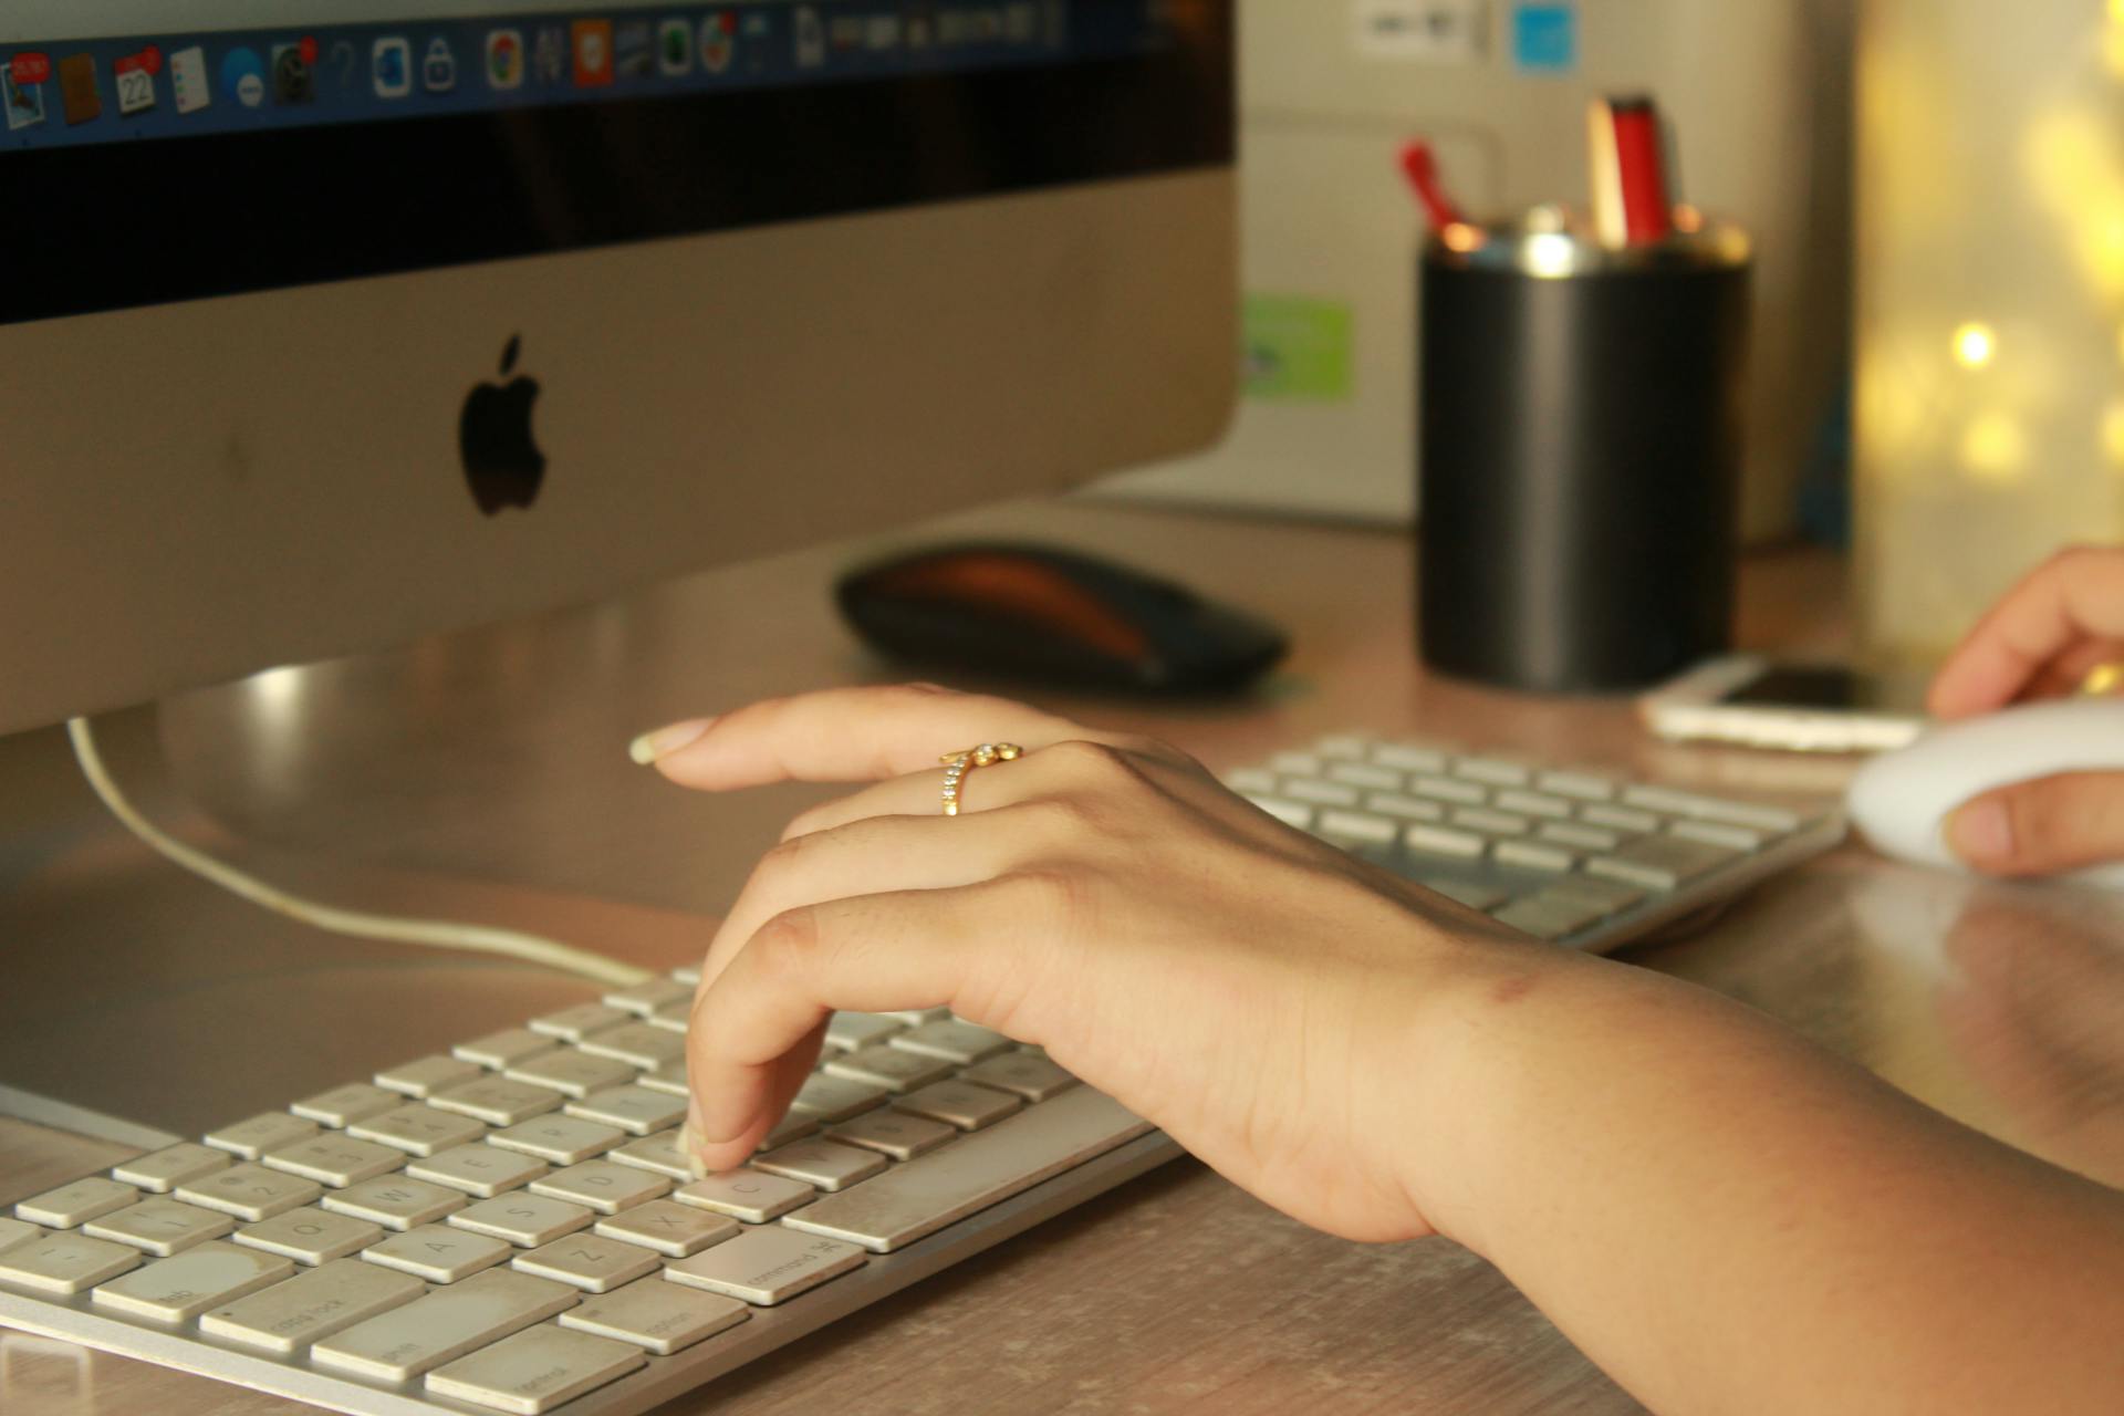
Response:
[[[2124,550],[2075,548],[2031,571],[1948,656],[1929,707],[1939,718],[2005,707],[2082,639],[2124,639]]]

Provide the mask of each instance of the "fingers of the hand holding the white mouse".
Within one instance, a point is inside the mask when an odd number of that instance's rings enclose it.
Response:
[[[2075,548],[2014,586],[1933,679],[1931,709],[1975,718],[2060,698],[2124,662],[2124,548]],[[2124,773],[2065,773],[1986,792],[1948,817],[1948,843],[1980,870],[2050,875],[2124,858]]]

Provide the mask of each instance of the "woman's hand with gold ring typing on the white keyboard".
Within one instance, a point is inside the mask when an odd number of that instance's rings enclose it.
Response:
[[[790,824],[707,951],[688,1070],[714,1170],[782,1117],[835,1008],[943,1004],[1043,1044],[1268,1204],[1410,1238],[1442,1219],[1404,1157],[1436,1134],[1455,1000],[1568,960],[1285,828],[1172,747],[1000,698],[822,692],[656,741],[692,788],[873,783]],[[966,773],[945,817],[939,754],[977,743],[1026,754]]]

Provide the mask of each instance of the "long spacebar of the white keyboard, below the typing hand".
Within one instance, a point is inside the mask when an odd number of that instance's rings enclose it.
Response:
[[[1070,1087],[943,1151],[826,1195],[782,1223],[888,1255],[1151,1129],[1092,1087]]]

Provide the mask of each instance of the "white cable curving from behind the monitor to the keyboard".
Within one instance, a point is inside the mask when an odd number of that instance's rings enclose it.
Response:
[[[378,938],[393,945],[427,945],[431,949],[501,953],[512,960],[539,964],[544,968],[559,968],[561,972],[582,974],[584,979],[618,987],[648,983],[656,977],[646,968],[607,960],[601,953],[576,949],[573,945],[563,945],[552,938],[539,938],[537,934],[499,930],[484,923],[450,923],[448,919],[367,915],[363,911],[336,909],[331,904],[319,904],[314,900],[293,896],[285,890],[268,885],[255,875],[244,875],[227,862],[215,860],[206,851],[198,851],[183,841],[164,834],[153,822],[140,815],[140,811],[125,800],[125,794],[119,792],[110,773],[104,771],[104,760],[96,752],[96,732],[87,718],[68,720],[66,737],[74,745],[74,760],[81,762],[81,775],[89,779],[89,788],[93,788],[96,796],[110,809],[110,815],[125,824],[125,830],[140,836],[140,841],[178,866],[210,879],[232,894],[240,894],[261,909],[299,919],[308,926],[316,926],[319,930],[348,934],[353,938]]]

